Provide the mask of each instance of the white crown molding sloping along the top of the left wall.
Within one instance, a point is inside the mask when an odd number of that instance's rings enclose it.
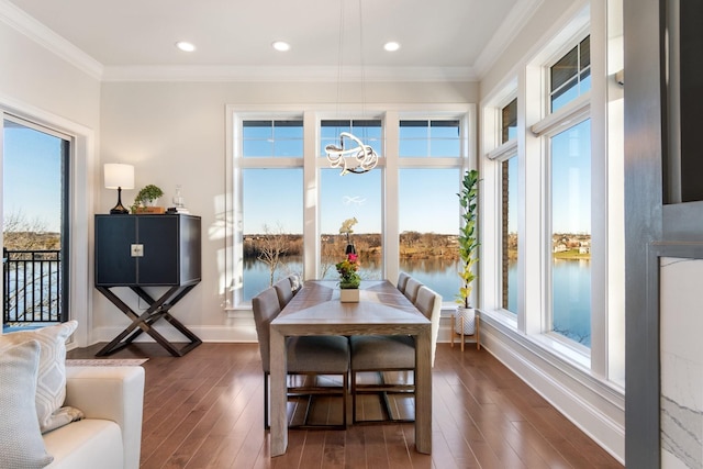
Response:
[[[8,0],[0,0],[0,21],[89,76],[98,80],[102,79],[102,64]]]

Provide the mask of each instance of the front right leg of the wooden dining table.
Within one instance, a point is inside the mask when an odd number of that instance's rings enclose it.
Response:
[[[432,454],[432,338],[429,326],[415,339],[415,448]]]

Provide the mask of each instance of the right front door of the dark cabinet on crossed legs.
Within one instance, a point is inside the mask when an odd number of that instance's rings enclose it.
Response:
[[[144,246],[143,257],[137,258],[138,284],[178,284],[178,216],[137,215],[137,223]]]

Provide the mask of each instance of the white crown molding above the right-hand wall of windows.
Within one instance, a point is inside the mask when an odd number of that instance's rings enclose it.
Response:
[[[527,24],[543,2],[544,0],[517,1],[507,16],[505,16],[503,23],[501,23],[500,27],[495,31],[491,41],[489,41],[476,59],[476,64],[473,65],[476,79],[480,80],[483,78],[491,67],[495,65],[498,57],[503,55],[511,41],[513,41],[517,32]]]

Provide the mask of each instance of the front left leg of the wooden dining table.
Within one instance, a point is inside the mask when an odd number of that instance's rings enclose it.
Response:
[[[286,337],[276,328],[270,327],[270,368],[271,387],[271,456],[281,456],[288,448],[288,422],[286,421]],[[264,403],[266,405],[266,403]]]

